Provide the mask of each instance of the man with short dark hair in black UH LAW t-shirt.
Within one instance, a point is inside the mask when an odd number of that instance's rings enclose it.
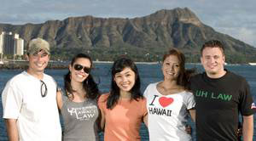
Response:
[[[243,118],[243,140],[253,140],[253,98],[242,76],[224,69],[224,46],[217,40],[201,48],[206,72],[192,77],[195,94],[197,141],[237,140],[239,113]]]

